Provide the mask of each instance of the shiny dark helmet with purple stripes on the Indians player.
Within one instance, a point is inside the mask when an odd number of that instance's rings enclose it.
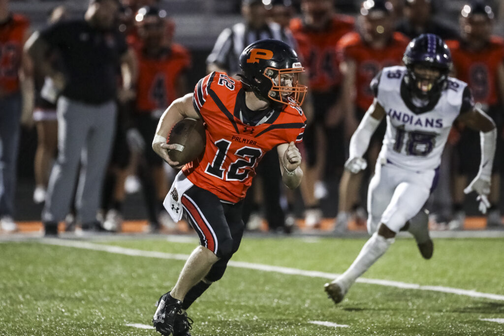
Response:
[[[407,69],[404,80],[415,96],[429,98],[445,89],[452,69],[452,55],[439,36],[422,34],[414,38],[406,47],[403,62]],[[439,71],[439,76],[427,89],[422,89],[420,85],[425,79],[415,73],[415,68],[418,66]]]

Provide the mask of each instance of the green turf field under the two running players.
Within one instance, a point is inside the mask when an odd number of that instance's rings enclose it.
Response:
[[[47,242],[0,243],[0,335],[154,335],[153,329],[127,324],[151,324],[154,302],[176,281],[183,261],[159,256],[188,254],[196,244],[160,237],[85,246],[120,247],[110,253]],[[341,273],[364,242],[245,238],[233,261],[278,266],[282,272],[281,267],[292,267]],[[228,267],[224,278],[188,310],[195,321],[193,335],[504,335],[504,324],[481,320],[504,322],[504,239],[436,239],[434,244],[433,258],[425,261],[413,240],[397,239],[363,278],[474,290],[496,298],[356,283],[334,305],[323,291],[323,277],[241,264],[245,268]],[[138,250],[165,254],[124,254]]]

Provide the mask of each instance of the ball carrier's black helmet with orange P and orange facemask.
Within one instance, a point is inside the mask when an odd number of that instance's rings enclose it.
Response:
[[[298,75],[304,68],[288,44],[274,39],[254,42],[241,53],[239,65],[243,86],[257,97],[292,106],[302,104],[307,87],[298,84]]]

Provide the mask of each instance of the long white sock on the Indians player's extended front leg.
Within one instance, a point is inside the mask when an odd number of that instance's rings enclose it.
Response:
[[[366,272],[389,249],[394,240],[395,238],[387,239],[380,236],[377,232],[373,233],[360,250],[355,261],[348,267],[345,273],[336,279],[336,282],[348,290],[355,280]]]

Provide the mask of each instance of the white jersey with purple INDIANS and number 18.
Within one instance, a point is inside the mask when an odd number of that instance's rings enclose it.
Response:
[[[405,66],[384,68],[377,83],[376,99],[387,113],[380,159],[407,170],[435,169],[461,111],[467,84],[450,77],[437,101],[417,107],[406,98],[405,74]]]

